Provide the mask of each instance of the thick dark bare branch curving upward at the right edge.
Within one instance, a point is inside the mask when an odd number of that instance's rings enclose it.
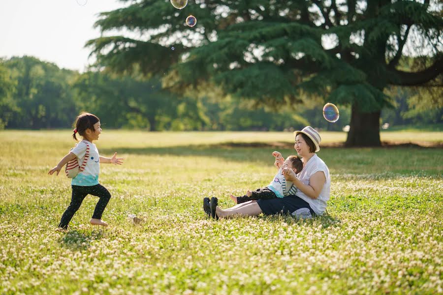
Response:
[[[427,69],[419,72],[404,72],[392,70],[394,77],[390,78],[389,83],[397,86],[418,86],[435,79],[443,73],[443,58],[436,60]]]

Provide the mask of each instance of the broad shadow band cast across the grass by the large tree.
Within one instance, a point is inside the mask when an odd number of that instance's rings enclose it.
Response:
[[[273,166],[272,152],[280,151],[284,157],[295,155],[289,143],[222,143],[217,145],[187,145],[176,147],[104,148],[102,154],[169,155],[180,157],[211,157],[234,162],[248,162],[266,167]],[[340,148],[322,146],[317,155],[328,165],[333,174],[397,173],[402,175],[439,175],[442,162],[441,148],[423,148],[416,145],[397,145],[381,148]],[[425,165],[405,166],[405,159],[414,155],[417,163]],[[429,157],[435,161],[430,162]],[[387,163],[387,164],[386,164]],[[383,176],[386,178],[389,176]]]

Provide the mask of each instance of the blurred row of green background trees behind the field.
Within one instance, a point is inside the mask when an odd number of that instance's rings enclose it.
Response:
[[[432,95],[410,88],[389,91],[396,108],[386,108],[382,122],[391,126],[442,123],[443,108],[436,107],[441,102]],[[338,122],[324,120],[321,97],[266,107],[217,89],[189,94],[169,92],[159,79],[142,75],[81,74],[33,57],[13,57],[0,62],[0,128],[69,128],[81,111],[97,114],[107,128],[151,131],[279,131],[308,124],[341,130],[350,118],[349,107],[339,106]]]

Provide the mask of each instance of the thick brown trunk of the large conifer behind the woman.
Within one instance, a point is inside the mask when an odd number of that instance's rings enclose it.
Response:
[[[352,105],[351,121],[349,124],[346,147],[380,147],[380,113],[361,112]]]

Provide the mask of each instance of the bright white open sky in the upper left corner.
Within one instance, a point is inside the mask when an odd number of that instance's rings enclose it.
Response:
[[[99,12],[124,7],[116,0],[1,0],[0,57],[33,56],[83,72],[93,61],[85,43],[100,36]]]

